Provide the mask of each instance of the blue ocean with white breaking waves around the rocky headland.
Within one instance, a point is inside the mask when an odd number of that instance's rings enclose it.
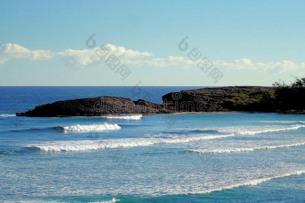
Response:
[[[14,116],[195,88],[0,87],[0,202],[305,202],[305,115]]]

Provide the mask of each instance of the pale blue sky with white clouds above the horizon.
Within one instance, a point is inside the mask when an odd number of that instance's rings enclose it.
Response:
[[[271,86],[305,1],[0,1],[0,86]]]

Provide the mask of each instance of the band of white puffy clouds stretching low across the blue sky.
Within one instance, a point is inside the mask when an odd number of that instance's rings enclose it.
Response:
[[[134,51],[125,47],[117,47],[112,44],[103,45],[110,51],[110,54],[118,57],[123,63],[138,67],[168,67],[176,66],[189,68],[198,62],[193,62],[181,56],[168,56],[164,58],[151,58],[153,55],[149,52]],[[27,60],[59,60],[66,66],[75,68],[84,68],[86,66],[100,63],[100,58],[96,55],[98,48],[93,49],[66,49],[59,52],[50,50],[29,50],[17,44],[7,43],[0,46],[0,66],[3,66],[10,60],[27,59]],[[150,57],[150,58],[149,58]],[[216,60],[212,62],[214,66],[226,68],[229,70],[255,70],[255,71],[304,71],[305,63],[295,63],[289,60],[281,62],[252,62],[251,59],[242,58],[233,62]]]

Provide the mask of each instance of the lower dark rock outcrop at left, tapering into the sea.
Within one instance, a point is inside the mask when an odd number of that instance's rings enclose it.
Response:
[[[146,101],[145,101],[146,102]],[[146,105],[144,105],[146,104]],[[155,107],[155,108],[154,108]],[[16,113],[29,117],[101,116],[125,113],[157,113],[158,105],[150,102],[133,102],[122,97],[95,97],[57,101],[36,106],[33,110]]]

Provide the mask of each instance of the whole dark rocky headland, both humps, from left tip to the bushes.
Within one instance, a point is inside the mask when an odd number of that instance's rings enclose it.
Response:
[[[211,111],[274,111],[274,90],[269,87],[220,87],[171,92],[162,104],[122,97],[95,97],[57,101],[36,106],[16,116],[68,117],[107,114],[152,114]]]

